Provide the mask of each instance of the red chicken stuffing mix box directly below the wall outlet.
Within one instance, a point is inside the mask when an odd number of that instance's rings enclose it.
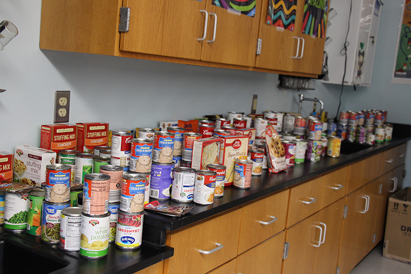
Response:
[[[77,148],[77,125],[44,124],[41,128],[40,148],[58,153]]]

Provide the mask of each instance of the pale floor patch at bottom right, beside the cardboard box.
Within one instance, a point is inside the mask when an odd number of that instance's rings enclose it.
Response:
[[[382,242],[350,274],[411,274],[411,265],[382,257]]]

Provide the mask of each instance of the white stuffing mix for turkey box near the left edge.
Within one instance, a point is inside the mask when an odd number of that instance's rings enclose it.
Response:
[[[14,181],[41,187],[46,181],[46,166],[55,162],[55,156],[51,150],[18,145],[14,153]]]

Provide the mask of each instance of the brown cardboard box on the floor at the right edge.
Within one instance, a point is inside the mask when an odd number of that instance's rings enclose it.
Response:
[[[411,188],[389,196],[383,256],[411,264]]]

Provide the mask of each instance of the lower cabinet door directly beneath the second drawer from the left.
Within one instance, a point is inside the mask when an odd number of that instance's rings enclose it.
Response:
[[[281,273],[285,233],[281,232],[237,257],[236,273]]]

